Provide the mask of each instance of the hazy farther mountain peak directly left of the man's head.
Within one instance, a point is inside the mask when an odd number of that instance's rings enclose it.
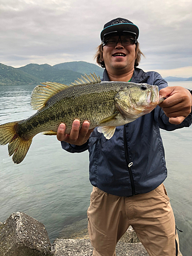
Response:
[[[99,66],[88,63],[85,61],[72,61],[72,62],[65,62],[65,63],[60,63],[57,65],[53,66],[56,69],[59,70],[72,70],[74,72],[79,72],[82,74],[87,74],[89,73],[95,73],[96,75],[99,75],[100,77],[103,76],[103,69],[100,68]]]

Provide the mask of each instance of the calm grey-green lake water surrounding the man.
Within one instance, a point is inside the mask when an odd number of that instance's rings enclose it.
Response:
[[[169,86],[192,89],[192,82],[169,82]],[[0,87],[0,124],[25,119],[31,110],[33,87]],[[162,131],[168,178],[165,186],[174,209],[183,256],[191,256],[192,245],[192,127]],[[92,185],[89,154],[71,154],[61,149],[55,136],[34,137],[25,160],[16,165],[0,146],[0,221],[23,211],[45,224],[51,242],[86,227]],[[80,222],[81,220],[81,222]]]

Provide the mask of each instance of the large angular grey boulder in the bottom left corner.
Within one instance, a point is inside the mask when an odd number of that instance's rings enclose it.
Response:
[[[13,213],[0,226],[1,256],[45,256],[53,253],[44,224],[23,212]]]

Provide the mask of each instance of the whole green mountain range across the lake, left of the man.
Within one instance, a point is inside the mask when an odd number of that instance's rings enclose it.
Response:
[[[82,73],[81,73],[82,72]],[[29,64],[13,68],[0,63],[0,86],[37,86],[40,82],[59,82],[70,84],[81,75],[94,73],[102,77],[103,69],[84,61],[48,64]]]

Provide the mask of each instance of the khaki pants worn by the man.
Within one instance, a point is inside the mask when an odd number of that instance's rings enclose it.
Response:
[[[150,256],[179,255],[175,218],[163,184],[133,197],[93,187],[87,213],[93,256],[115,256],[116,244],[130,225]]]

